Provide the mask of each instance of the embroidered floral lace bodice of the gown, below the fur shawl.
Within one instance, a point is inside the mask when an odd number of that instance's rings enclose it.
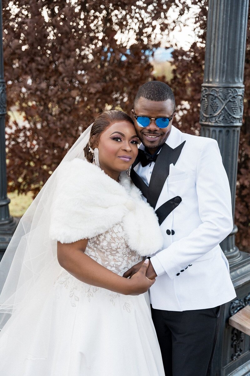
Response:
[[[89,239],[85,253],[105,268],[119,275],[142,260],[142,256],[137,255],[128,247],[120,223],[103,234]]]

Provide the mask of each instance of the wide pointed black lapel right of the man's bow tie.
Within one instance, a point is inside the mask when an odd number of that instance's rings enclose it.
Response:
[[[167,144],[164,144],[161,148],[159,156],[155,162],[148,187],[147,201],[154,209],[166,179],[169,176],[169,166],[171,163],[173,163],[173,165],[176,164],[185,142],[186,141],[177,146],[175,149],[172,149],[172,147]]]

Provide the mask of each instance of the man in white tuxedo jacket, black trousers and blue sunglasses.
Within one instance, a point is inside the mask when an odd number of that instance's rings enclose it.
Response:
[[[142,144],[131,179],[155,209],[164,236],[164,249],[151,256],[147,276],[156,277],[150,299],[165,374],[206,376],[220,306],[235,298],[219,245],[233,228],[227,174],[217,141],[172,125],[175,98],[165,83],[142,85],[132,112]]]

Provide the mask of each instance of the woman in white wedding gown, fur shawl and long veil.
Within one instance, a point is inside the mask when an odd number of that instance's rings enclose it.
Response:
[[[164,376],[148,260],[122,277],[163,244],[130,181],[137,143],[127,114],[99,114],[21,218],[0,263],[2,376]]]

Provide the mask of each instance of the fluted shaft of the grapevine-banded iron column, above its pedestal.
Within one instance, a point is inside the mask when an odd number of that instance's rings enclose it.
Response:
[[[218,141],[229,178],[233,217],[243,114],[248,0],[210,0],[204,81],[200,104],[201,136]],[[242,258],[235,246],[237,226],[221,243],[230,264]]]

